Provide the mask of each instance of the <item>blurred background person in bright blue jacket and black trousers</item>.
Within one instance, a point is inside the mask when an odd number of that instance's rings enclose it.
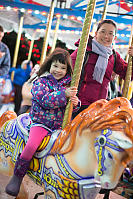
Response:
[[[13,78],[13,86],[15,88],[15,112],[18,114],[20,110],[21,101],[22,101],[22,86],[29,79],[30,73],[33,67],[32,61],[24,60],[21,63],[21,66],[17,66],[17,68],[12,67],[9,71],[11,76],[12,72],[14,72]]]

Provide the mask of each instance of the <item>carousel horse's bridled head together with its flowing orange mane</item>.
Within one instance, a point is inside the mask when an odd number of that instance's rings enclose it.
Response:
[[[105,135],[103,130],[107,129],[109,133]],[[94,143],[91,146],[95,147],[94,158],[92,151],[88,154],[97,161],[95,165],[98,165],[97,167],[91,165],[91,160],[89,160],[88,170],[93,167],[94,175],[103,188],[114,188],[124,168],[133,159],[133,109],[129,100],[118,97],[110,101],[98,100],[91,104],[65,127],[53,151],[65,154],[74,150],[78,140],[77,134],[82,136],[84,132],[88,132],[85,141],[90,139],[91,143]],[[65,148],[62,140],[67,138],[70,138],[70,141],[68,147]],[[81,146],[81,143],[78,146]]]

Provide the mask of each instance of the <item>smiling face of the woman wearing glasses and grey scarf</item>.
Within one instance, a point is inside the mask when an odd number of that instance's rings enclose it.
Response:
[[[111,46],[112,42],[116,39],[115,27],[108,23],[102,24],[100,29],[95,33],[95,38],[103,46]]]

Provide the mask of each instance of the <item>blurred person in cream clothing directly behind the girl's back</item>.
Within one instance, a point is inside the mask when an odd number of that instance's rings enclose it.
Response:
[[[32,86],[33,86],[33,81],[36,79],[37,72],[39,71],[39,69],[40,69],[39,64],[36,64],[33,67],[32,71],[30,73],[30,79],[28,79],[28,81],[26,81],[23,84],[23,87],[22,87],[22,103],[21,103],[21,107],[20,107],[20,110],[19,110],[17,115],[21,115],[23,113],[27,113],[27,112],[30,111],[30,108],[31,108],[31,105],[32,105],[31,89],[32,89]]]

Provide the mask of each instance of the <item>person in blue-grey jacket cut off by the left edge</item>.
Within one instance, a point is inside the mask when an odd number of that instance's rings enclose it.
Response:
[[[11,57],[10,51],[6,44],[2,42],[4,29],[0,25],[0,76],[5,76],[10,70]]]

